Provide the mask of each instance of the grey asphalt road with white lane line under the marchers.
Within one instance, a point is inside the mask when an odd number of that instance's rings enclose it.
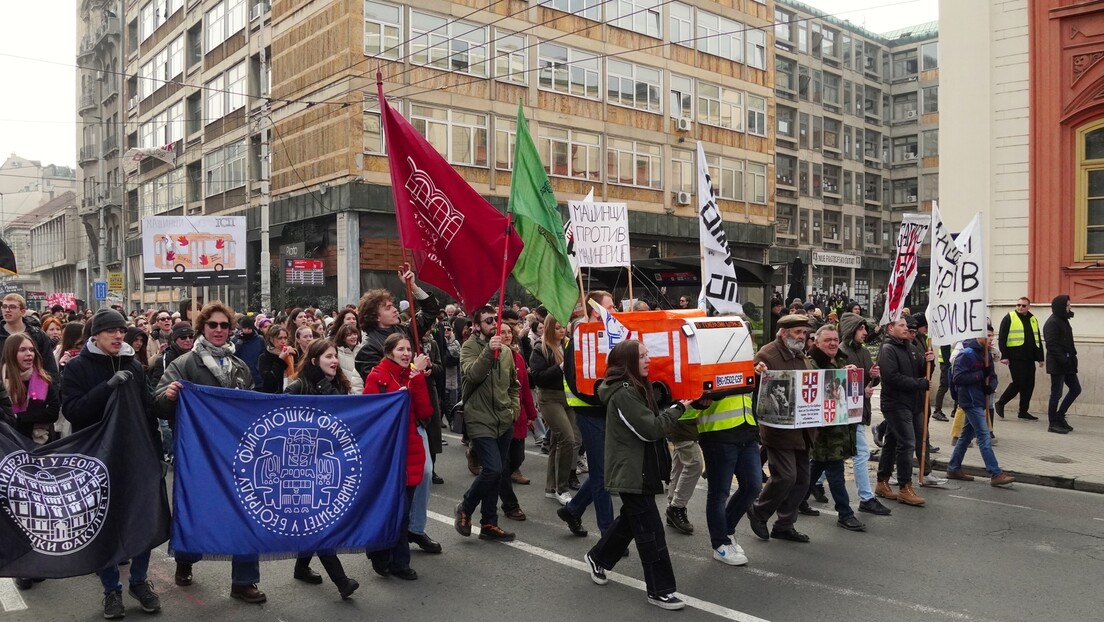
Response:
[[[704,483],[690,504],[698,528],[693,536],[668,530],[681,612],[665,612],[645,599],[634,554],[595,586],[582,557],[596,541],[593,514],[587,538],[572,536],[555,516],[559,507],[543,496],[544,456],[531,451],[522,471],[533,478],[518,486],[529,520],[502,520],[516,530],[510,545],[461,538],[452,510],[466,489],[468,474],[459,441],[439,458],[445,478],[434,489],[429,534],[445,552],[414,551],[413,582],[375,576],[363,556],[343,556],[346,570],[361,583],[342,602],[328,580],[307,586],[291,579],[293,561],[262,565],[264,605],[232,601],[230,565],[195,565],[195,584],[172,584],[173,561],[162,546],[150,574],[168,621],[619,621],[647,616],[678,620],[894,620],[894,621],[1089,621],[1102,620],[1104,600],[1095,590],[1104,576],[1104,498],[1100,495],[1017,484],[992,488],[988,481],[955,483],[933,491],[924,508],[891,504],[893,516],[860,514],[868,531],[835,525],[822,515],[800,517],[798,528],[813,541],[757,540],[745,523],[737,537],[751,563],[733,568],[713,561],[704,524]],[[852,489],[853,493],[853,489]],[[852,498],[853,499],[853,498]],[[662,507],[662,499],[657,499]],[[854,502],[852,500],[852,504]],[[615,499],[615,507],[617,506]],[[509,523],[509,525],[506,525]],[[321,571],[317,560],[316,570]],[[102,620],[100,588],[93,577],[45,581],[17,592],[0,579],[0,620]],[[128,619],[147,618],[124,594]]]

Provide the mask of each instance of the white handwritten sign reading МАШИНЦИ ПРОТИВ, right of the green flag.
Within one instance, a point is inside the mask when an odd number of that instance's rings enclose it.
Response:
[[[580,267],[629,265],[628,205],[571,201],[567,208]]]

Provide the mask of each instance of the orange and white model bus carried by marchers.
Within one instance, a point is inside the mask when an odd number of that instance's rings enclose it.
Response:
[[[660,403],[719,399],[755,389],[755,345],[745,320],[707,317],[699,309],[613,316],[648,348],[648,379]],[[593,396],[595,384],[606,373],[609,336],[603,323],[590,321],[575,327],[573,339],[576,387]]]

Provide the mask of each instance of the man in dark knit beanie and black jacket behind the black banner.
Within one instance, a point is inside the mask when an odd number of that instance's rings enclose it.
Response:
[[[141,363],[135,360],[135,349],[123,340],[127,333],[127,320],[115,309],[100,309],[92,318],[92,337],[84,345],[81,355],[65,366],[62,376],[62,410],[65,419],[78,432],[99,423],[107,410],[107,401],[116,389],[127,382],[136,382],[141,394],[142,412],[147,415],[146,433],[153,437],[153,445],[161,446],[161,436],[153,419],[153,397],[145,382]],[[160,457],[160,456],[158,456]],[[112,491],[115,494],[115,491]],[[119,491],[125,494],[125,491]],[[155,613],[161,610],[161,600],[147,579],[149,551],[130,560],[130,595],[138,600],[142,611]],[[123,586],[119,583],[119,567],[112,566],[97,572],[104,586],[104,618],[115,620],[126,615],[123,607]]]

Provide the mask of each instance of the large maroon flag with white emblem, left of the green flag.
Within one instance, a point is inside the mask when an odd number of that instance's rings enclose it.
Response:
[[[521,254],[521,238],[383,97],[380,112],[403,247],[414,253],[418,278],[440,287],[469,314],[498,289],[498,275]],[[503,253],[503,251],[506,251]]]

